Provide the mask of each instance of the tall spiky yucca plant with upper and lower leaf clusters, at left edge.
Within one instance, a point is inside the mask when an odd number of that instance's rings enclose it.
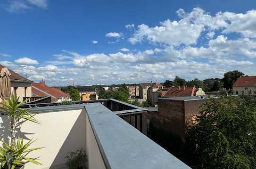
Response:
[[[38,162],[38,158],[29,158],[27,155],[35,150],[41,149],[38,148],[29,148],[33,144],[33,140],[29,140],[27,143],[24,143],[23,138],[16,138],[16,128],[20,125],[20,122],[30,121],[33,123],[39,123],[35,118],[35,114],[31,114],[27,109],[20,108],[27,100],[23,102],[18,101],[19,98],[11,94],[8,100],[3,100],[0,107],[4,115],[8,116],[10,121],[10,133],[11,133],[11,142],[10,145],[4,141],[3,147],[0,147],[0,168],[7,168],[10,166],[11,169],[22,169],[25,163],[32,162],[37,165],[42,165]]]

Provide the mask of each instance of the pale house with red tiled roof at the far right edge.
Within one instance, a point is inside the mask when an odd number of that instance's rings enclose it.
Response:
[[[233,94],[256,95],[256,76],[239,77],[232,86]]]

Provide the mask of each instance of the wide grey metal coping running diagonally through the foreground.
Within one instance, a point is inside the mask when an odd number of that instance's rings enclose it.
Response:
[[[107,169],[190,169],[102,104],[85,110]]]

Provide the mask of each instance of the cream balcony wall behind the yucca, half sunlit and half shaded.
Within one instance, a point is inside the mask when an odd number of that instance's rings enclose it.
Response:
[[[24,138],[38,139],[31,147],[45,147],[29,154],[29,157],[40,157],[43,166],[28,163],[25,169],[62,169],[65,168],[65,156],[68,152],[85,149],[86,114],[82,109],[69,111],[55,111],[39,113],[35,116],[40,124],[25,122],[19,135]],[[0,123],[5,122],[6,116],[0,117]],[[0,131],[1,139],[9,141],[7,137],[8,122],[3,124]],[[2,128],[2,127],[1,127]]]

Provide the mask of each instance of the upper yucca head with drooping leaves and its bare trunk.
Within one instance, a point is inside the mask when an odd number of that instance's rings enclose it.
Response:
[[[26,102],[27,100],[19,102],[19,97],[15,97],[12,93],[8,100],[3,100],[3,102],[0,103],[0,110],[8,116],[10,121],[11,148],[15,148],[16,127],[20,124],[21,120],[23,122],[30,121],[33,123],[39,123],[34,118],[35,114],[31,114],[26,109],[20,108],[20,106]]]

